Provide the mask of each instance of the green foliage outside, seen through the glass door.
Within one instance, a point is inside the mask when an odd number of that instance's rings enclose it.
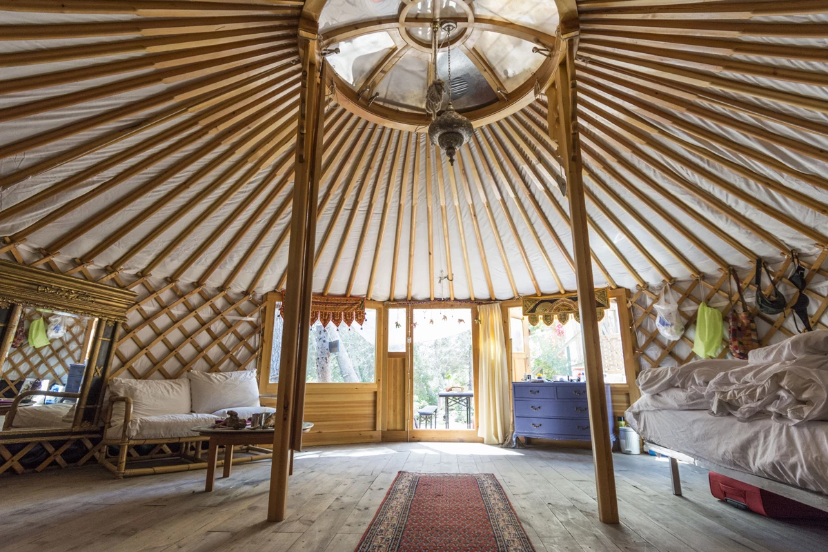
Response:
[[[416,330],[415,330],[416,331]],[[471,329],[462,334],[414,343],[414,408],[438,406],[437,427],[445,427],[445,400],[437,393],[448,386],[472,389]],[[439,402],[438,402],[439,401]],[[465,408],[450,409],[452,425],[466,425]],[[471,417],[474,420],[474,403]]]

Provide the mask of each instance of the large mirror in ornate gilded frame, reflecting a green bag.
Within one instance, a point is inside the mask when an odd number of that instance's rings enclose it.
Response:
[[[130,290],[0,261],[0,444],[99,431],[134,300]]]

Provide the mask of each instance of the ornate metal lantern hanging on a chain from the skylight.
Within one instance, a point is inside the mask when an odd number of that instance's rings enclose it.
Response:
[[[428,85],[426,92],[426,112],[431,114],[431,124],[428,126],[428,137],[431,138],[431,143],[440,146],[445,151],[445,155],[449,158],[449,164],[455,164],[455,153],[460,147],[471,140],[474,128],[471,126],[469,119],[460,115],[455,111],[451,103],[451,33],[455,31],[457,24],[453,21],[436,20],[431,23],[431,66],[433,67],[433,74],[431,77],[431,84]],[[436,79],[437,74],[437,50],[438,41],[437,34],[439,31],[445,32],[445,42],[448,44],[448,80],[443,82]],[[448,105],[443,113],[438,116],[440,108],[443,104],[443,99],[446,92],[448,93]]]

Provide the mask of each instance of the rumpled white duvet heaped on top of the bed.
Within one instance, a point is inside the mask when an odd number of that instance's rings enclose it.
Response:
[[[706,409],[742,421],[771,417],[785,425],[828,420],[828,331],[757,349],[747,361],[700,360],[646,370],[638,387],[645,397],[633,412]]]

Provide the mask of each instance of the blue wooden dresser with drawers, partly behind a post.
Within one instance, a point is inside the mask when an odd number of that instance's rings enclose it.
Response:
[[[609,427],[613,427],[613,405],[607,389]],[[590,415],[586,404],[586,383],[513,382],[515,432],[517,437],[540,437],[566,441],[589,441]],[[611,441],[615,434],[610,430]]]

